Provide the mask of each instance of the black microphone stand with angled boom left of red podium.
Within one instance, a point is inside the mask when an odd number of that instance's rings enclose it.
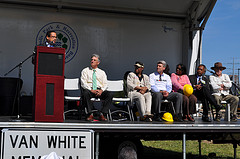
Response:
[[[4,76],[7,76],[9,73],[11,73],[13,70],[15,70],[16,68],[18,68],[18,81],[17,81],[17,117],[16,119],[11,119],[11,121],[23,121],[23,119],[21,119],[21,115],[20,115],[20,85],[21,85],[21,76],[22,76],[22,65],[24,62],[26,62],[29,58],[31,58],[32,56],[34,56],[34,52],[33,54],[29,55],[25,60],[23,60],[22,62],[20,62],[19,64],[17,64],[14,68],[12,68],[10,71],[8,71],[7,73],[4,74]],[[15,105],[15,99],[16,96],[14,98],[14,102],[13,104]]]

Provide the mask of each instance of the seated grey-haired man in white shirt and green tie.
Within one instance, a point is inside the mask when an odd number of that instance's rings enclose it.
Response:
[[[100,110],[100,121],[106,121],[104,115],[108,113],[108,110],[112,103],[112,95],[107,89],[107,75],[98,68],[100,64],[100,57],[97,54],[93,54],[91,57],[91,67],[86,67],[81,73],[81,86],[83,88],[83,101],[87,107],[88,117],[87,121],[93,121],[94,116],[92,110],[94,108],[91,98],[103,99],[102,109]]]

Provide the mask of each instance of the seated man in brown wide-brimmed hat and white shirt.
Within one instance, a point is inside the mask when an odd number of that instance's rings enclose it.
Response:
[[[218,105],[221,104],[221,101],[227,101],[230,103],[231,121],[237,121],[237,107],[239,98],[229,94],[229,90],[232,87],[232,82],[227,74],[222,73],[226,67],[223,67],[221,62],[216,62],[214,67],[211,67],[211,69],[215,71],[215,73],[210,76],[210,83],[213,87],[213,95]],[[216,121],[220,121],[220,119],[221,114],[217,113]]]

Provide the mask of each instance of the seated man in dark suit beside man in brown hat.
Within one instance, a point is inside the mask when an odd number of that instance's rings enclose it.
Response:
[[[221,106],[217,104],[215,98],[211,95],[209,80],[204,75],[205,72],[206,66],[201,64],[197,68],[197,73],[189,76],[189,79],[194,88],[194,95],[202,102],[203,105],[202,120],[205,122],[211,122],[211,119],[208,117],[209,103],[214,105],[217,113],[221,109]]]

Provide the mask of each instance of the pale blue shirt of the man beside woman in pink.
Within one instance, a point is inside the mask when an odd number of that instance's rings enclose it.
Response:
[[[169,75],[163,73],[160,78],[158,72],[151,73],[149,75],[151,90],[153,92],[172,91],[172,81]]]

